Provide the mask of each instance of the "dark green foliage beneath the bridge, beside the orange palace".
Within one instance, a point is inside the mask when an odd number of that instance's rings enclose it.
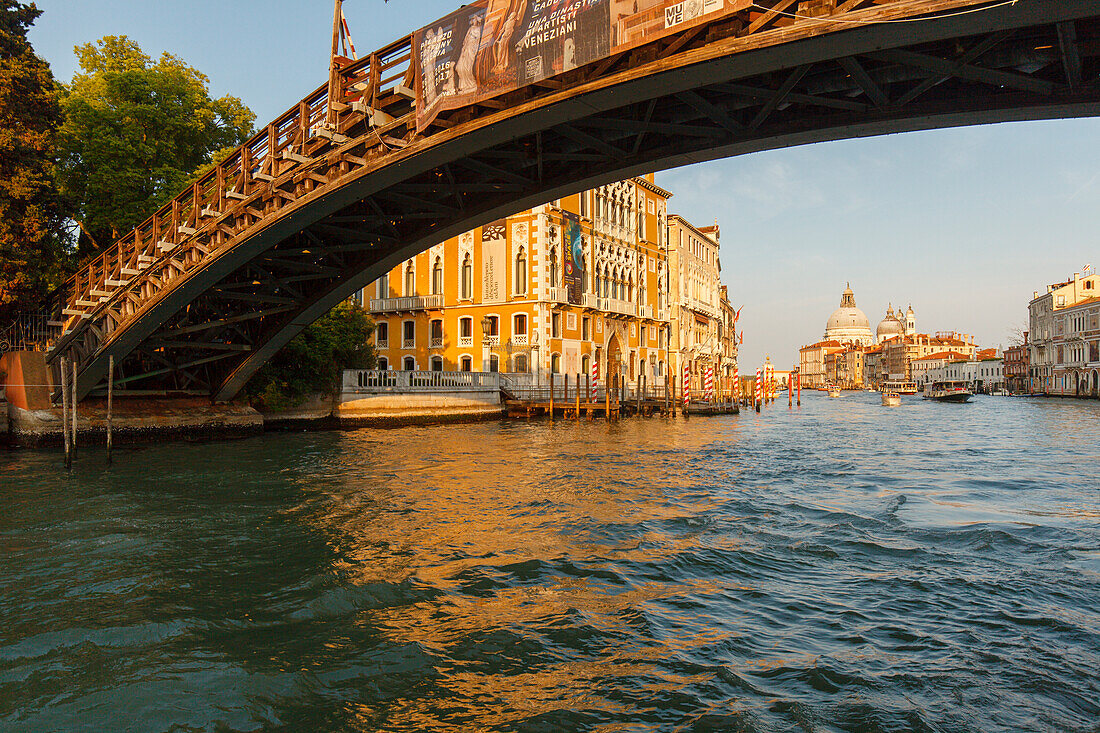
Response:
[[[374,322],[344,302],[287,343],[248,385],[253,401],[268,409],[290,407],[314,393],[333,394],[345,369],[373,369],[369,343]]]

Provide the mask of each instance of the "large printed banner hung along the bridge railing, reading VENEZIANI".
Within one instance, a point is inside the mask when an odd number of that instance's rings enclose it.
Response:
[[[414,34],[417,128],[745,10],[750,0],[474,0]]]

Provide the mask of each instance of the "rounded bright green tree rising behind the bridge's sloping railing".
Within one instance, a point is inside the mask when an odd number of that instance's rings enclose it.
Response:
[[[252,133],[237,97],[172,54],[154,62],[124,35],[77,46],[80,73],[64,90],[61,182],[81,223],[81,250],[141,223],[224,150]]]

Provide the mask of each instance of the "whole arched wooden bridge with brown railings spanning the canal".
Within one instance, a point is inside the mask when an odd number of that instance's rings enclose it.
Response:
[[[424,74],[442,33],[334,55],[327,85],[57,292],[55,380],[75,360],[82,397],[113,357],[119,386],[228,400],[395,264],[546,200],[815,141],[1100,112],[1097,0],[704,6],[721,10],[529,84],[463,97],[460,58],[461,103]]]

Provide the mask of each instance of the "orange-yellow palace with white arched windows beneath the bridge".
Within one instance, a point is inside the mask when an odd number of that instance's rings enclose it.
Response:
[[[593,362],[668,373],[671,194],[652,175],[464,232],[361,294],[381,369],[502,371],[544,383]],[[717,291],[713,297],[717,313]]]

